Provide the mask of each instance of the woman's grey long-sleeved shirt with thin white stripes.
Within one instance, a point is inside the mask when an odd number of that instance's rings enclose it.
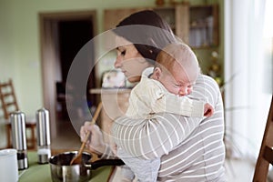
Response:
[[[116,145],[135,157],[161,157],[158,181],[227,181],[223,102],[217,83],[201,75],[191,95],[214,106],[214,115],[200,118],[160,113],[150,119],[119,117],[112,127]],[[109,148],[106,150],[110,155]]]

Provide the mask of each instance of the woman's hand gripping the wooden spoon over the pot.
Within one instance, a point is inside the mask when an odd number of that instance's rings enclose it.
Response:
[[[90,131],[89,139],[86,141],[86,147],[97,155],[102,155],[105,152],[106,144],[103,140],[103,135],[100,128],[91,122],[86,121],[84,126],[81,126],[80,135],[83,142],[86,134]]]

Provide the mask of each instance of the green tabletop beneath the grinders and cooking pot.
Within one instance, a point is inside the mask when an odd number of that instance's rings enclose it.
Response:
[[[19,170],[19,182],[50,182],[51,173],[49,164],[38,164],[37,154],[34,151],[27,153],[28,168]],[[106,182],[110,176],[112,167],[99,167],[92,170],[90,182]]]

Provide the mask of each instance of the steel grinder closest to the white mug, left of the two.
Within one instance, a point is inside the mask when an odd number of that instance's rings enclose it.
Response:
[[[17,150],[18,169],[22,170],[28,167],[27,146],[25,136],[25,114],[15,111],[10,115],[12,125],[13,147]]]

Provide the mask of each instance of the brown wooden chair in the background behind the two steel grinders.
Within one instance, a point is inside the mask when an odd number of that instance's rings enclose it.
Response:
[[[7,146],[12,147],[12,127],[9,121],[9,116],[12,112],[18,111],[19,106],[17,104],[16,96],[15,96],[15,88],[13,86],[13,82],[9,79],[7,82],[0,83],[0,99],[1,99],[1,106],[4,111],[4,117],[6,121],[6,139],[7,139]],[[29,119],[25,118],[25,129],[30,130],[31,136],[26,136],[27,140],[27,147],[29,149],[34,149],[36,146],[35,140],[35,118]]]

